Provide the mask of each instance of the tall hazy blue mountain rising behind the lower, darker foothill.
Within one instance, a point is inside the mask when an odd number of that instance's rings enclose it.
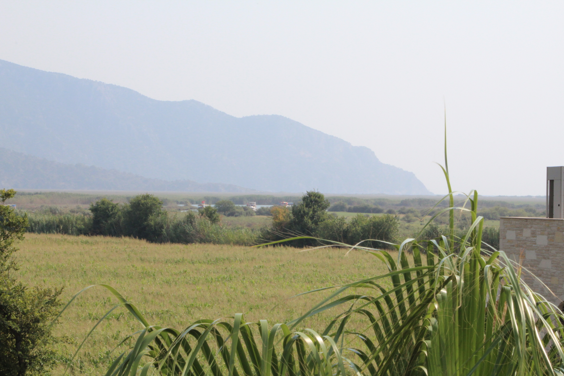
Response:
[[[283,116],[237,118],[3,60],[0,133],[0,147],[148,178],[271,192],[430,193],[370,149]]]

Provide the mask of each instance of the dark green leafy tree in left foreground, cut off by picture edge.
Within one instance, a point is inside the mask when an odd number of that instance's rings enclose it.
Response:
[[[14,189],[0,189],[0,374],[39,375],[55,364],[49,345],[58,339],[50,324],[59,312],[62,289],[30,290],[10,276],[17,269],[11,259],[14,242],[23,240],[28,225],[27,216],[4,205],[15,194]]]

